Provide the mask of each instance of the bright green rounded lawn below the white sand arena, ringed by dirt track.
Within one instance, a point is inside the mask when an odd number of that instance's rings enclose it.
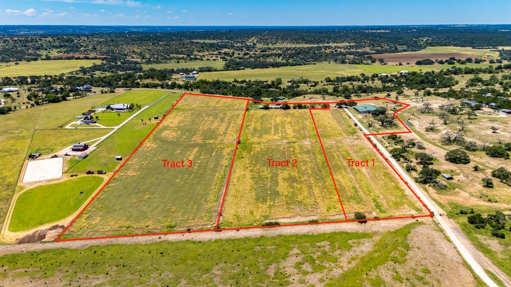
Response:
[[[30,230],[70,216],[103,180],[99,176],[84,176],[27,190],[16,200],[9,230]]]

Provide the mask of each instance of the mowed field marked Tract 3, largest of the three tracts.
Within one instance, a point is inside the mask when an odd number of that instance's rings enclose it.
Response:
[[[184,96],[65,238],[214,228],[245,104]]]

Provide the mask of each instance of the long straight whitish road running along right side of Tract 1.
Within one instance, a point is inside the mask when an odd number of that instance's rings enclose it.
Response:
[[[353,114],[348,110],[344,109],[346,113],[353,119],[355,123],[362,129],[362,131],[365,134],[370,134],[370,132],[362,126],[362,124],[358,121],[358,119],[353,116]],[[426,206],[434,213],[435,219],[438,221],[438,224],[442,229],[444,229],[447,236],[450,238],[452,243],[456,246],[459,253],[465,261],[470,265],[472,270],[479,276],[484,283],[486,283],[490,287],[498,287],[497,284],[486,274],[484,269],[481,267],[479,262],[474,258],[472,252],[469,250],[469,248],[466,246],[467,244],[471,245],[471,243],[467,240],[467,238],[464,238],[465,240],[460,239],[459,237],[464,236],[461,230],[459,230],[458,226],[453,222],[448,222],[449,219],[444,220],[440,214],[445,214],[443,210],[441,210],[439,207],[437,207],[435,204],[432,203],[432,201],[429,199],[429,197],[424,193],[422,188],[417,186],[415,184],[415,181],[410,178],[408,173],[406,173],[401,166],[398,164],[396,160],[392,158],[390,153],[381,145],[381,143],[374,137],[369,136],[369,138],[373,141],[373,143],[378,147],[380,152],[387,158],[387,160],[394,166],[394,168],[399,172],[399,174],[404,178],[404,180],[410,185],[410,187],[414,190],[415,194],[421,198],[421,200],[426,204]],[[440,212],[439,212],[440,211]],[[449,220],[450,221],[450,220]],[[473,250],[475,248],[471,246]]]

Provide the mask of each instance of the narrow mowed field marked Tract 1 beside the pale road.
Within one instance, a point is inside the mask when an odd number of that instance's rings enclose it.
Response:
[[[428,213],[342,109],[313,114],[349,219],[356,211],[368,218]],[[375,166],[349,167],[347,159],[374,159]]]

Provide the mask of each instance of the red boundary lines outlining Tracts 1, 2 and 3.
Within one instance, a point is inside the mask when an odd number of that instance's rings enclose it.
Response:
[[[69,229],[69,227],[71,227],[71,225],[73,225],[73,223],[75,223],[75,221],[78,219],[78,217],[80,217],[80,215],[83,213],[83,211],[90,205],[90,203],[92,201],[94,201],[96,199],[96,197],[102,192],[102,190],[105,188],[105,186],[110,182],[110,180],[115,176],[117,175],[117,173],[123,168],[123,166],[126,164],[126,162],[131,158],[131,156],[133,156],[133,154],[142,146],[142,144],[146,141],[146,139],[154,132],[154,130],[159,126],[159,124],[164,121],[164,119],[167,117],[167,115],[176,107],[176,105],[181,101],[181,99],[185,96],[185,95],[200,95],[200,96],[204,96],[204,97],[214,97],[214,98],[224,98],[224,99],[235,99],[235,100],[246,100],[247,101],[247,104],[245,106],[245,112],[243,113],[243,119],[242,119],[242,123],[241,123],[241,127],[240,127],[240,132],[238,133],[238,141],[236,142],[236,149],[235,149],[235,152],[234,152],[234,155],[233,155],[233,160],[231,161],[231,166],[230,166],[230,169],[229,169],[229,175],[227,177],[227,182],[226,182],[226,186],[225,186],[225,189],[224,189],[224,193],[223,193],[223,196],[222,196],[222,203],[221,203],[221,206],[220,206],[220,211],[219,211],[219,214],[218,214],[218,219],[217,219],[217,224],[216,224],[216,227],[215,229],[205,229],[205,230],[190,230],[190,231],[174,231],[174,232],[160,232],[160,233],[146,233],[146,234],[129,234],[129,235],[113,235],[113,236],[99,236],[99,237],[85,237],[85,238],[68,238],[68,239],[60,239],[65,232],[67,232],[67,230]],[[332,176],[332,180],[334,181],[334,186],[336,188],[336,192],[337,192],[337,196],[339,198],[339,203],[341,204],[341,207],[342,207],[342,212],[344,213],[344,217],[345,217],[345,220],[344,221],[327,221],[327,222],[309,222],[309,223],[296,223],[296,224],[283,224],[283,225],[271,225],[271,226],[249,226],[249,227],[238,227],[238,228],[223,228],[223,229],[218,229],[218,225],[219,225],[219,222],[220,222],[220,217],[221,217],[221,213],[222,213],[222,208],[223,208],[223,204],[224,204],[224,201],[225,201],[225,195],[227,193],[227,187],[228,187],[228,184],[229,184],[229,180],[230,180],[230,175],[231,175],[231,171],[233,170],[233,165],[234,165],[234,161],[235,161],[235,158],[236,158],[236,151],[238,149],[238,142],[240,140],[240,136],[241,136],[241,132],[242,132],[242,129],[243,129],[243,123],[245,121],[245,115],[246,115],[246,112],[247,112],[247,108],[248,108],[248,103],[250,101],[254,102],[254,103],[260,103],[260,104],[289,104],[289,105],[294,105],[294,104],[314,104],[314,105],[321,105],[321,104],[337,104],[337,103],[349,103],[349,102],[362,102],[362,101],[374,101],[374,100],[385,100],[385,101],[390,101],[390,102],[393,102],[393,103],[397,103],[397,104],[402,104],[404,105],[403,108],[395,111],[392,113],[392,115],[394,117],[396,117],[398,119],[398,121],[401,123],[401,125],[403,125],[406,129],[406,131],[401,131],[401,132],[387,132],[387,133],[372,133],[372,134],[364,134],[364,137],[371,143],[371,145],[377,150],[377,152],[380,154],[380,156],[387,162],[388,165],[390,165],[390,168],[392,168],[392,170],[399,176],[399,178],[405,183],[405,185],[408,187],[408,189],[410,189],[410,191],[413,193],[413,195],[423,204],[423,206],[426,208],[426,210],[428,210],[429,214],[422,214],[422,215],[417,215],[417,216],[403,216],[403,217],[389,217],[389,218],[374,218],[374,219],[365,219],[365,220],[348,220],[347,217],[346,217],[346,213],[344,212],[344,207],[342,206],[342,201],[340,199],[340,196],[339,196],[339,192],[337,190],[337,186],[335,184],[335,180],[334,180],[334,177],[333,177],[333,174],[332,174],[332,170],[330,169],[330,164],[328,163],[328,158],[327,158],[327,154],[325,153],[324,151],[324,148],[323,148],[323,145],[322,145],[322,142],[321,142],[321,138],[319,136],[319,132],[318,132],[318,129],[317,129],[317,126],[316,126],[316,123],[314,121],[314,116],[312,115],[312,110],[325,110],[325,109],[330,109],[330,107],[328,108],[309,108],[309,112],[311,113],[311,117],[312,117],[312,121],[314,123],[314,128],[316,129],[316,133],[318,135],[318,139],[319,139],[319,142],[321,143],[321,149],[323,150],[323,154],[324,154],[324,157],[327,161],[327,165],[328,165],[328,168],[329,168],[329,171],[330,171],[330,175]],[[263,102],[263,101],[258,101],[258,100],[253,100],[253,99],[250,99],[250,98],[241,98],[241,97],[229,97],[229,96],[225,96],[225,95],[213,95],[213,94],[200,94],[200,93],[189,93],[189,92],[185,92],[181,95],[181,97],[176,101],[176,103],[170,108],[170,110],[160,119],[160,121],[156,124],[156,126],[149,132],[149,134],[138,144],[138,146],[135,148],[135,150],[133,150],[133,152],[124,160],[124,162],[121,164],[121,166],[119,166],[119,168],[112,174],[112,176],[110,176],[110,178],[103,184],[103,186],[101,187],[101,189],[96,193],[96,195],[94,197],[92,197],[90,199],[90,201],[87,203],[87,205],[85,205],[82,210],[80,210],[80,212],[77,214],[77,216],[71,221],[71,223],[69,223],[69,225],[60,233],[60,235],[57,237],[57,239],[55,240],[56,242],[64,242],[64,241],[81,241],[81,240],[97,240],[97,239],[106,239],[106,238],[121,238],[121,237],[137,237],[137,236],[149,236],[149,235],[167,235],[167,234],[181,234],[181,233],[195,233],[195,232],[211,232],[211,231],[222,231],[222,230],[241,230],[241,229],[255,229],[255,228],[272,228],[272,227],[283,227],[283,226],[301,226],[301,225],[318,225],[318,224],[329,224],[329,223],[342,223],[342,222],[364,222],[364,221],[376,221],[376,220],[391,220],[391,219],[407,219],[407,218],[422,218],[422,217],[433,217],[434,214],[433,212],[431,212],[431,210],[426,206],[426,204],[419,198],[419,196],[417,196],[417,194],[415,194],[415,192],[413,191],[413,189],[410,187],[410,185],[408,185],[408,183],[403,179],[403,177],[398,173],[398,171],[392,166],[392,164],[390,164],[390,162],[383,156],[383,154],[380,152],[380,150],[378,150],[378,148],[374,145],[373,141],[370,140],[369,136],[375,136],[375,135],[387,135],[387,134],[403,134],[403,133],[411,133],[412,131],[401,121],[401,119],[396,115],[398,112],[408,108],[410,105],[409,104],[406,104],[406,103],[403,103],[403,102],[398,102],[398,101],[394,101],[394,100],[390,100],[390,99],[387,99],[387,98],[369,98],[369,99],[357,99],[357,100],[346,100],[346,101],[334,101],[334,102],[272,102],[272,103],[267,103],[267,102]]]

